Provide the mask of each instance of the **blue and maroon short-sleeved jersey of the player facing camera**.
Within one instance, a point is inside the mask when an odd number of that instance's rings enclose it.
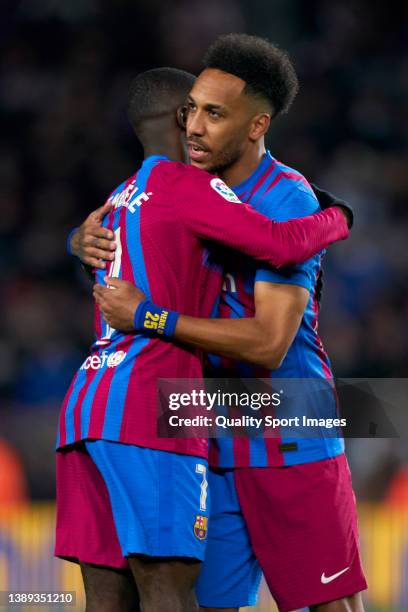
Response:
[[[306,179],[274,159],[269,152],[254,174],[235,193],[268,218],[283,221],[309,215],[319,210],[318,201]],[[224,262],[225,281],[218,309],[213,316],[226,318],[252,317],[255,312],[254,288],[258,281],[299,285],[309,292],[309,301],[300,328],[280,368],[266,370],[249,363],[210,356],[215,376],[242,378],[332,379],[330,362],[318,335],[317,285],[324,251],[300,265],[280,270],[259,265],[247,257],[229,258]],[[317,383],[318,384],[318,383]],[[303,387],[305,390],[309,387]],[[299,394],[299,406],[291,407],[291,415],[311,418],[338,418],[337,401],[331,385],[318,394],[319,401],[305,404]],[[282,409],[275,416],[283,418]],[[302,422],[302,421],[300,421]],[[293,430],[292,430],[293,431]],[[210,464],[219,467],[266,467],[295,465],[334,457],[344,450],[336,429],[321,428],[314,437],[305,438],[298,430],[281,428],[278,437],[221,437],[212,441]]]

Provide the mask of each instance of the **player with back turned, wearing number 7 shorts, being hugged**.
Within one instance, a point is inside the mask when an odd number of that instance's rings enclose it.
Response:
[[[276,223],[219,178],[177,163],[185,152],[181,105],[193,82],[171,68],[136,78],[130,118],[146,157],[113,191],[103,221],[116,243],[108,282],[138,284],[165,306],[140,315],[158,337],[117,331],[96,307],[96,341],[61,410],[56,554],[81,563],[88,612],[136,608],[127,562],[143,612],[196,609],[209,511],[207,442],[158,438],[156,379],[202,374],[198,350],[161,338],[174,332],[171,311],[210,316],[219,296],[221,269],[204,241],[280,267],[348,234],[337,208]],[[98,269],[101,284],[103,277]]]

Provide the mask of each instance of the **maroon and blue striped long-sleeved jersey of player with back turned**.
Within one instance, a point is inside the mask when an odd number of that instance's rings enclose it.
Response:
[[[115,233],[117,248],[108,275],[136,284],[164,308],[196,317],[210,316],[222,285],[205,240],[280,266],[348,233],[337,209],[296,226],[271,222],[220,179],[160,156],[147,158],[110,201],[104,225]],[[97,282],[104,284],[104,276],[98,270]],[[207,456],[205,440],[157,436],[157,379],[200,379],[199,351],[122,334],[107,325],[97,306],[94,328],[92,352],[63,402],[57,446],[105,439]]]

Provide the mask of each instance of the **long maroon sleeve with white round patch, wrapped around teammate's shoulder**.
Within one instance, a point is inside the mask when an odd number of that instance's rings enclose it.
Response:
[[[193,167],[185,167],[174,180],[172,198],[180,222],[197,237],[275,268],[306,261],[348,236],[347,222],[337,208],[277,222],[243,204],[221,179]]]

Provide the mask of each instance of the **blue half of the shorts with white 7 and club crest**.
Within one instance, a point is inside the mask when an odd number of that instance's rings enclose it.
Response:
[[[204,459],[105,440],[85,445],[109,492],[123,556],[204,558]]]

